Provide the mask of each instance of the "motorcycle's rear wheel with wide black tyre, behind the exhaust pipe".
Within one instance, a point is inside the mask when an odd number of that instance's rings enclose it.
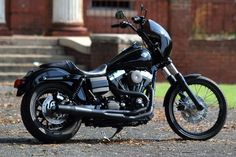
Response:
[[[72,92],[65,85],[47,83],[24,95],[21,117],[28,132],[43,143],[60,143],[72,138],[81,120],[68,114],[50,112],[56,103],[66,103]]]

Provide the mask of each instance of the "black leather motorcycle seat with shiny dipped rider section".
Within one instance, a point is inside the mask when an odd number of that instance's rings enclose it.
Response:
[[[84,71],[79,69],[72,61],[64,60],[52,63],[46,63],[39,66],[40,68],[61,68],[68,71],[71,74],[80,74],[80,75],[88,75],[88,76],[95,76],[95,75],[104,75],[106,74],[107,65],[102,64],[96,69],[92,71]]]

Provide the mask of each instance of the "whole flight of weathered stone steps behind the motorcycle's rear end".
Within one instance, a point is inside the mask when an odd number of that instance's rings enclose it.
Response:
[[[0,37],[0,82],[14,82],[40,64],[60,60],[75,59],[65,54],[58,37]],[[87,70],[84,65],[78,67]]]

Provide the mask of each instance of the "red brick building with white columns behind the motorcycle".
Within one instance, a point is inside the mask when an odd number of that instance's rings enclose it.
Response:
[[[235,0],[0,0],[0,35],[131,33],[110,25],[117,8],[130,17],[140,3],[170,32],[182,72],[236,82]]]

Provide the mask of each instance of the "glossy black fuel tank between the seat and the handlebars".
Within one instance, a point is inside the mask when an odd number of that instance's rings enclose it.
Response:
[[[135,43],[111,59],[107,65],[108,71],[119,69],[148,70],[152,66],[152,56],[146,48]]]

